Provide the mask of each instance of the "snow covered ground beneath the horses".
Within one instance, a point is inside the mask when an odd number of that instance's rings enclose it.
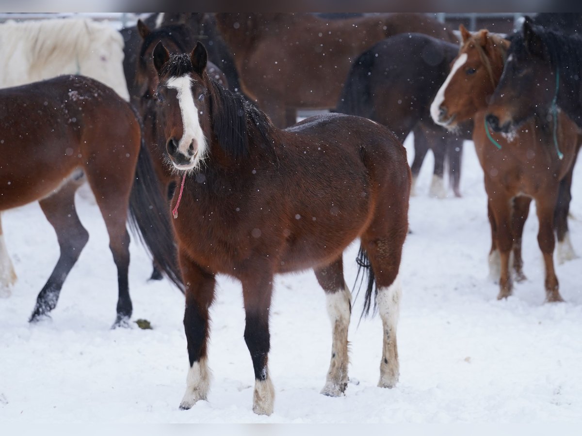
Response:
[[[409,159],[413,157],[411,142]],[[579,160],[579,166],[582,165]],[[269,369],[272,416],[251,410],[253,369],[243,339],[240,284],[221,277],[212,309],[208,402],[178,410],[187,370],[183,296],[166,281],[148,283],[151,265],[131,246],[133,319],[115,317],[116,270],[91,198],[78,198],[90,241],[63,287],[52,321],[30,326],[36,296],[58,258],[52,227],[35,203],[3,214],[19,281],[0,300],[2,423],[542,423],[582,420],[582,258],[556,266],[566,303],[544,304],[537,220],[524,232],[524,272],[514,296],[497,301],[488,278],[489,226],[482,171],[471,142],[463,156],[463,198],[428,197],[427,156],[411,198],[401,266],[400,383],[376,387],[381,356],[378,316],[350,326],[346,395],[319,394],[331,350],[324,292],[311,271],[276,281]],[[582,171],[574,174],[570,227],[582,255]],[[532,206],[534,207],[534,206]],[[355,278],[357,245],[345,253]]]

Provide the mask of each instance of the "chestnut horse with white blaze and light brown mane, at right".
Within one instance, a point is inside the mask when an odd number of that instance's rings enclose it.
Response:
[[[454,128],[472,119],[475,151],[484,172],[492,243],[491,267],[499,265],[499,295],[512,294],[510,253],[517,280],[524,280],[521,234],[531,199],[535,200],[540,223],[538,244],[544,256],[546,301],[562,301],[554,270],[554,230],[564,258],[574,252],[567,233],[570,184],[580,146],[578,129],[565,114],[556,124],[542,117],[524,123],[514,138],[491,133],[487,102],[499,83],[510,47],[508,40],[481,30],[471,34],[460,27],[463,45],[452,70],[431,106],[436,123]],[[553,138],[558,142],[554,144]]]

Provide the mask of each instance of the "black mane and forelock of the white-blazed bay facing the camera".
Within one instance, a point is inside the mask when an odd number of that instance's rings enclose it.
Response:
[[[162,77],[181,77],[184,74],[194,72],[190,55],[172,55],[168,62],[162,67]],[[249,138],[257,135],[251,134],[256,131],[262,138],[261,145],[273,149],[271,140],[271,130],[275,127],[271,120],[247,101],[242,94],[232,92],[221,84],[208,77],[206,72],[204,80],[210,86],[210,110],[212,117],[212,130],[217,137],[223,151],[233,156],[242,158],[249,155]]]

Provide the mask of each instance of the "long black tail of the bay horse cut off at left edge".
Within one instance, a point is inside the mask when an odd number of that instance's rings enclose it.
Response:
[[[159,269],[184,292],[182,273],[176,258],[170,208],[162,196],[143,137],[129,198],[129,216],[130,227],[148,249]]]

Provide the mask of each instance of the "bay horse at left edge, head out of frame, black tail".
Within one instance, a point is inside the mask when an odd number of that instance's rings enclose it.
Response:
[[[38,294],[30,321],[55,308],[63,283],[88,240],[74,194],[88,181],[105,221],[118,269],[113,327],[132,315],[127,269],[128,207],[157,264],[181,285],[167,203],[159,195],[139,118],[106,85],[84,76],[59,76],[0,90],[2,166],[0,210],[38,201],[55,228],[61,255]]]

